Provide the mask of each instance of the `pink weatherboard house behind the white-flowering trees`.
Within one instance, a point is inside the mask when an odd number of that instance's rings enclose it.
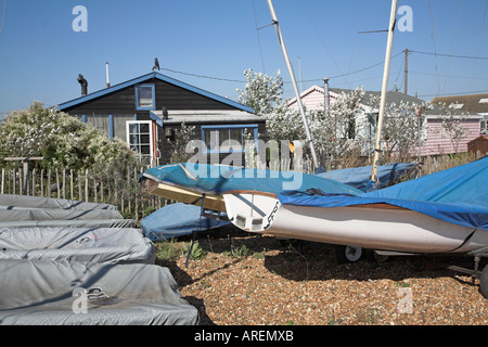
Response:
[[[337,88],[329,88],[325,83],[326,90],[329,91],[329,98],[326,98],[324,88],[319,86],[312,86],[300,93],[301,102],[307,110],[324,110],[324,105],[333,105],[337,95],[342,92],[350,92],[351,90],[347,89],[337,89]],[[373,95],[380,95],[380,92],[376,91],[367,91],[363,100],[361,101],[360,108],[362,110],[362,114],[358,115],[359,117],[365,118],[365,114],[377,113],[377,110],[374,110],[371,105],[369,105],[369,100]],[[426,131],[424,131],[424,142],[421,147],[422,155],[437,155],[437,154],[450,154],[455,152],[466,152],[467,151],[467,142],[472,141],[479,137],[483,131],[486,131],[487,123],[488,123],[488,94],[485,94],[486,99],[479,98],[481,103],[484,100],[487,101],[486,113],[484,112],[473,112],[468,108],[461,107],[451,107],[452,113],[454,115],[454,119],[461,119],[462,126],[467,130],[466,136],[461,139],[459,142],[451,140],[450,136],[442,131],[441,127],[441,116],[439,112],[439,107],[437,107],[435,100],[433,101],[434,110],[429,110],[423,112],[426,121]],[[409,103],[418,103],[422,105],[424,102],[421,99],[406,95],[400,92],[388,91],[386,97],[387,103],[399,103],[400,101],[409,102]],[[291,107],[297,107],[296,98],[292,99],[288,103]],[[484,110],[484,108],[477,108]],[[463,116],[464,114],[464,116]],[[468,116],[465,116],[468,115]],[[419,149],[414,150],[415,154],[419,153]]]

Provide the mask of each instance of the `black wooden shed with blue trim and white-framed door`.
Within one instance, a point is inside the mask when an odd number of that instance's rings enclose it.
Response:
[[[253,108],[155,72],[56,110],[127,141],[152,166],[169,162],[183,123],[195,126],[193,140],[205,144],[198,154],[220,162],[232,155],[243,158],[245,133],[254,140],[266,136],[266,120]]]

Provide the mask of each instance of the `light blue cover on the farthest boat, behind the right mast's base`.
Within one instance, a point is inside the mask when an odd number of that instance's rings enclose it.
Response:
[[[399,178],[409,175],[416,167],[415,163],[393,163],[382,165],[377,168],[377,185],[376,189],[382,189],[395,183]],[[371,166],[361,166],[347,169],[331,170],[322,174],[317,174],[319,177],[330,178],[341,183],[352,185],[362,192],[371,190],[370,177]]]

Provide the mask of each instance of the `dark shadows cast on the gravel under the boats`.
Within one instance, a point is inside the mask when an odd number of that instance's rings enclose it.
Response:
[[[177,242],[190,243],[192,236],[179,237]],[[391,280],[400,282],[409,278],[436,279],[451,277],[465,285],[477,286],[473,281],[466,282],[457,277],[460,272],[447,269],[448,266],[459,266],[473,269],[472,257],[421,257],[421,256],[395,256],[386,261],[363,259],[354,264],[338,264],[335,257],[335,246],[330,244],[307,241],[283,241],[273,236],[261,236],[247,233],[231,227],[223,227],[196,234],[198,247],[205,253],[218,253],[229,255],[233,260],[221,268],[205,272],[201,278],[192,279],[184,267],[180,268],[174,260],[156,259],[156,264],[170,269],[178,286],[189,284],[211,277],[216,271],[234,266],[249,256],[259,256],[264,259],[265,268],[278,275],[291,281],[375,281]],[[479,270],[486,266],[487,259],[483,259]],[[198,261],[190,259],[190,261]],[[462,273],[461,273],[462,274]],[[206,314],[202,299],[190,296],[184,297],[189,304],[200,311],[202,325],[215,323]]]

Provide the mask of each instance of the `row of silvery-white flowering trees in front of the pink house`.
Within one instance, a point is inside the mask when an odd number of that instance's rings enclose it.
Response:
[[[255,107],[256,114],[266,118],[268,138],[277,141],[306,139],[299,112],[288,107],[288,100],[282,97],[283,81],[280,74],[273,78],[248,69],[244,75],[247,85],[244,91],[240,91],[240,102]],[[362,104],[364,95],[363,88],[342,92],[332,103],[328,115],[323,111],[306,110],[313,144],[322,163],[368,157],[372,153],[380,97],[371,98],[369,108],[375,111],[367,113]],[[427,110],[431,106],[427,103],[408,102],[386,105],[382,129],[385,156],[414,155],[412,150],[425,140],[423,134],[426,125],[418,114],[421,107]],[[453,129],[449,131],[454,132]]]

